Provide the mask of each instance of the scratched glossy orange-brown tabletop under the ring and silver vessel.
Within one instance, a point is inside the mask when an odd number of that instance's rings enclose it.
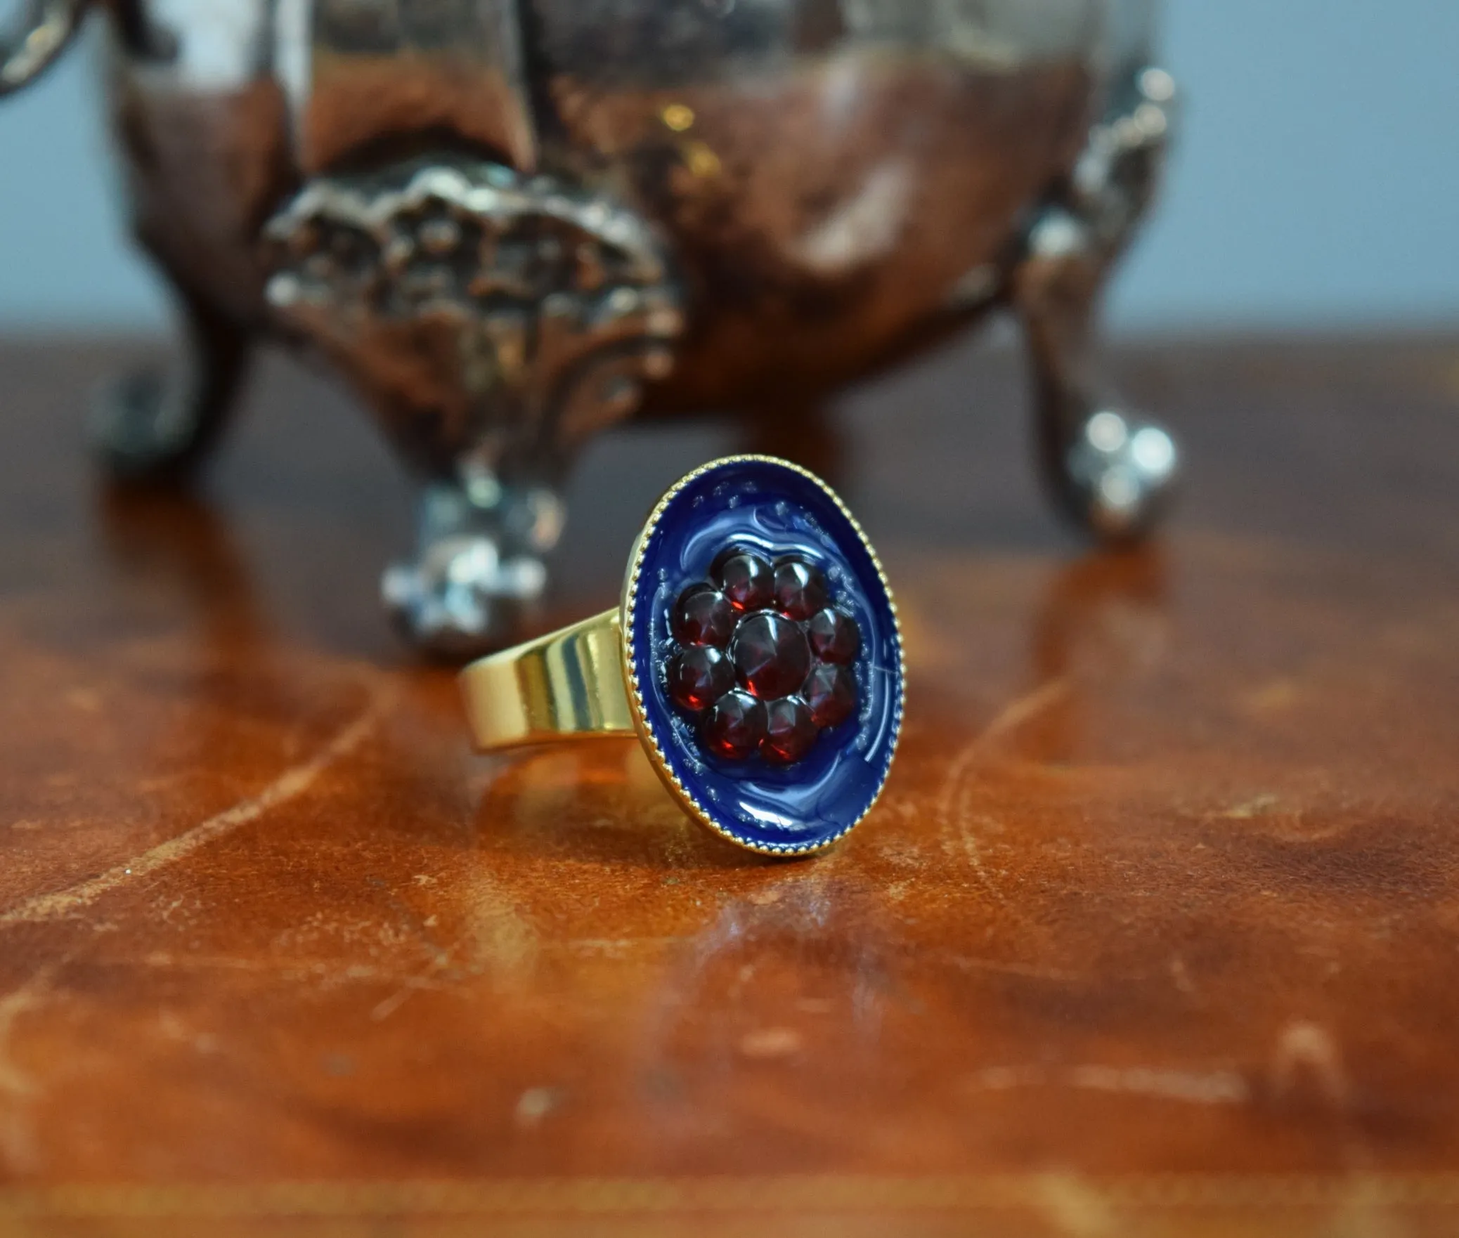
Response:
[[[0,349],[0,1232],[1459,1231],[1459,341],[1126,351],[1191,470],[1125,554],[996,350],[600,442],[553,623],[747,437],[883,554],[906,741],[798,863],[630,744],[468,752],[317,379],[107,493],[136,353]]]

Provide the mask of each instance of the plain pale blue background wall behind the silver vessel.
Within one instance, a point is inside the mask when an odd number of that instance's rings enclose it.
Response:
[[[1169,0],[1164,48],[1188,108],[1119,327],[1459,322],[1459,0]],[[0,105],[0,328],[165,321],[111,181],[92,57]]]

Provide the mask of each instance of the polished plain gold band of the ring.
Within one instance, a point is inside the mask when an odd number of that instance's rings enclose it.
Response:
[[[473,662],[461,691],[476,747],[633,735],[622,640],[611,610]]]

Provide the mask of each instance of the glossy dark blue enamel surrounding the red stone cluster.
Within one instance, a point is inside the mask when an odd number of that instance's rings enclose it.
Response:
[[[855,713],[795,764],[724,760],[670,698],[673,612],[728,550],[797,556],[820,569],[835,607],[861,628]],[[861,532],[818,481],[786,464],[731,458],[683,484],[645,538],[624,631],[646,729],[662,761],[713,827],[762,852],[816,850],[875,801],[902,728],[902,642],[891,598]]]

